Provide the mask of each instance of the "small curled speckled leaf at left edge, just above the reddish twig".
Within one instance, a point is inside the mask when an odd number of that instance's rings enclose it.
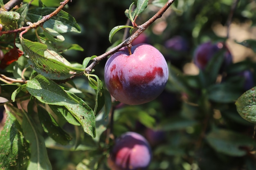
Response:
[[[17,29],[20,14],[14,11],[1,11],[0,24],[5,26],[5,29]]]

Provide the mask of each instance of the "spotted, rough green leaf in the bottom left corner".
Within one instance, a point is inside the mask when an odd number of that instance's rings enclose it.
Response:
[[[29,144],[24,138],[21,126],[8,109],[7,120],[0,134],[1,170],[27,170]]]

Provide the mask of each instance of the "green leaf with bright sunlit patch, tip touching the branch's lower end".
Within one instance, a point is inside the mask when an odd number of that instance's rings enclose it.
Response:
[[[48,46],[39,42],[21,39],[22,49],[28,57],[28,63],[38,73],[51,79],[67,79],[80,68],[73,68],[70,62]]]

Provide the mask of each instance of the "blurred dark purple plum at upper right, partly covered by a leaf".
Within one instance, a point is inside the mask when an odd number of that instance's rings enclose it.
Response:
[[[211,58],[222,49],[225,50],[225,59],[220,68],[220,71],[222,71],[225,67],[229,66],[232,63],[232,55],[227,46],[225,46],[225,44],[222,42],[218,42],[216,44],[213,44],[212,42],[205,42],[203,44],[200,44],[195,49],[194,53],[193,59],[195,65],[198,66],[198,68],[204,70]]]

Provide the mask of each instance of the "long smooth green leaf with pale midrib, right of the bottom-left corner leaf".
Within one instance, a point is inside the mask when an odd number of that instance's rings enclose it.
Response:
[[[22,129],[25,138],[29,141],[31,156],[27,170],[52,170],[52,165],[49,161],[47,150],[45,147],[45,139],[38,132],[34,119],[30,114],[23,111],[24,117],[22,120]]]

